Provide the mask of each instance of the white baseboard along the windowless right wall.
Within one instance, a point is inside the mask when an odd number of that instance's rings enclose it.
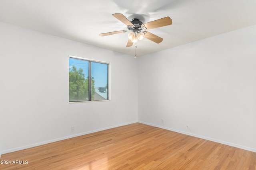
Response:
[[[182,133],[182,134],[184,134],[184,135],[189,135],[189,136],[193,136],[193,137],[198,137],[198,138],[200,138],[200,139],[205,139],[205,140],[208,140],[208,141],[213,141],[213,142],[216,142],[216,143],[221,143],[221,144],[228,145],[228,146],[231,146],[231,147],[236,147],[236,148],[240,148],[240,149],[244,149],[244,150],[249,150],[249,151],[252,151],[252,152],[256,152],[256,149],[254,149],[254,148],[245,147],[245,146],[241,146],[241,145],[236,145],[236,144],[234,144],[234,143],[229,143],[229,142],[225,142],[225,141],[220,141],[220,140],[218,140],[218,139],[212,139],[212,138],[209,138],[209,137],[204,137],[204,136],[196,135],[196,134],[193,134],[193,133],[188,133],[188,132],[184,132],[184,131],[179,131],[179,130],[176,130],[176,129],[172,129],[172,128],[168,128],[168,127],[164,127],[164,126],[160,126],[160,125],[155,125],[155,124],[147,123],[147,122],[143,122],[143,121],[138,121],[138,123],[142,123],[142,124],[150,125],[150,126],[154,126],[154,127],[159,127],[159,128],[166,129],[166,130],[169,130],[169,131],[174,131],[174,132],[177,132],[177,133]]]

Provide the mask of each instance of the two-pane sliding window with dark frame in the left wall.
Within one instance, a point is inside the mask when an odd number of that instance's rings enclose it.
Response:
[[[69,57],[69,102],[109,100],[109,63]]]

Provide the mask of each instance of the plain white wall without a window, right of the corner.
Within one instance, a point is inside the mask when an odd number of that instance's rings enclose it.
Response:
[[[256,152],[255,30],[139,57],[138,121]]]

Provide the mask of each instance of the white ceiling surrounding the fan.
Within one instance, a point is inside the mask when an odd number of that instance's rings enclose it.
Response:
[[[0,0],[0,21],[134,55],[127,29],[112,16],[121,13],[144,23],[169,16],[172,25],[148,30],[162,43],[138,41],[136,55],[176,47],[256,25],[256,0]]]

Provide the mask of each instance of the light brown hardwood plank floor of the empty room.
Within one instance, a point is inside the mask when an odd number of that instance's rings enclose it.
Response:
[[[3,154],[6,160],[1,170],[256,170],[255,152],[141,123]]]

